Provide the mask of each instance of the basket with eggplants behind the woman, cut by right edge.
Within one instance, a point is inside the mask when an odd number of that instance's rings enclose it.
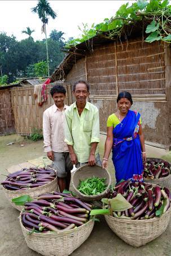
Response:
[[[171,164],[161,158],[147,158],[144,163],[143,180],[171,189]]]

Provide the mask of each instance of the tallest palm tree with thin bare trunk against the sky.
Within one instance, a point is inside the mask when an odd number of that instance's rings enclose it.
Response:
[[[38,14],[38,18],[41,19],[42,25],[42,32],[45,33],[46,36],[46,54],[47,54],[47,70],[49,76],[49,55],[48,55],[48,47],[47,47],[47,34],[46,34],[46,24],[48,23],[49,17],[52,19],[56,18],[56,12],[52,10],[50,7],[50,3],[47,0],[38,0],[37,6],[31,8],[32,12]]]

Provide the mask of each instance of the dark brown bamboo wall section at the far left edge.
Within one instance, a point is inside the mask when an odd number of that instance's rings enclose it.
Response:
[[[10,89],[0,90],[0,135],[15,132]]]

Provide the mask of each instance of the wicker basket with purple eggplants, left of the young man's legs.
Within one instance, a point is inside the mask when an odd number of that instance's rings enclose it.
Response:
[[[3,191],[11,205],[21,210],[23,206],[17,206],[12,202],[13,198],[28,195],[37,198],[40,193],[52,192],[58,189],[56,171],[52,168],[23,168],[11,173],[5,181],[1,182]]]

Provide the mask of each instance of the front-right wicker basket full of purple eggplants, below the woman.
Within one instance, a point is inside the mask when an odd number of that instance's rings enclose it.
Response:
[[[105,215],[108,226],[122,240],[139,247],[160,236],[170,220],[170,191],[158,185],[123,181],[113,188],[109,198],[122,194],[130,203],[124,211]],[[104,205],[104,207],[109,207]]]

